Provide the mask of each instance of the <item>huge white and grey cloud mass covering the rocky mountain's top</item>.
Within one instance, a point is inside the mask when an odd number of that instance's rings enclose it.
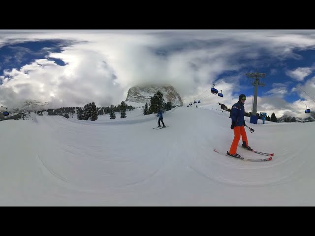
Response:
[[[261,49],[270,57],[296,58],[293,49],[315,45],[309,30],[40,31],[0,30],[0,46],[28,40],[71,40],[73,44],[61,53],[49,55],[62,59],[66,65],[39,59],[6,71],[0,78],[0,100],[8,106],[25,99],[49,101],[56,106],[82,106],[91,101],[97,106],[108,106],[125,100],[128,89],[140,83],[171,84],[185,104],[220,81],[218,76],[223,72],[235,72],[237,79],[227,79],[218,89],[239,85],[239,80],[244,79],[239,71],[248,66],[240,58],[257,63]],[[309,71],[292,73],[302,78]],[[232,105],[232,92],[237,89],[223,90],[221,102]],[[217,102],[213,98],[210,95],[204,100]]]

